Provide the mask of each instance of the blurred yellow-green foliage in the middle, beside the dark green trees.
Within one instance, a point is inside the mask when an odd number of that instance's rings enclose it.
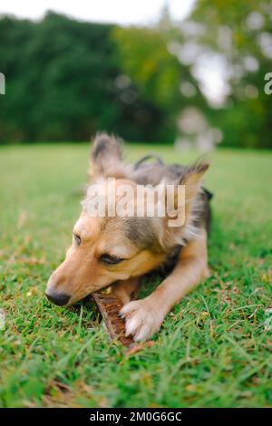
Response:
[[[124,73],[142,98],[160,111],[160,123],[154,126],[153,140],[172,140],[182,105],[181,66],[169,53],[167,34],[160,28],[116,27],[113,37]]]

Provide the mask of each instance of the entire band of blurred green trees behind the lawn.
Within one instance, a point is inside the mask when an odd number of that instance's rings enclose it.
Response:
[[[271,59],[269,0],[199,0],[186,21],[164,9],[150,28],[2,17],[0,142],[89,140],[107,130],[190,143],[196,136],[183,122],[194,111],[207,123],[201,137],[211,130],[225,145],[271,148]],[[222,85],[213,98],[212,63]]]

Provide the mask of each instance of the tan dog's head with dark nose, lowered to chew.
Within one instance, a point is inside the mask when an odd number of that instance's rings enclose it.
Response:
[[[188,202],[182,208],[189,208],[191,199],[199,190],[202,174],[207,169],[203,165],[188,169],[180,182],[188,185]],[[56,305],[72,305],[94,291],[110,286],[119,280],[133,276],[142,276],[159,266],[168,256],[171,247],[177,244],[177,229],[167,228],[165,218],[127,217],[109,213],[112,204],[121,200],[123,194],[119,189],[128,191],[125,203],[135,200],[136,182],[131,179],[131,166],[121,159],[118,140],[107,135],[96,138],[92,148],[92,185],[102,194],[110,194],[108,177],[114,178],[115,192],[113,198],[107,198],[105,214],[90,214],[93,201],[92,190],[88,191],[83,201],[83,211],[73,227],[73,243],[68,249],[63,263],[50,276],[46,295]],[[129,193],[129,195],[128,195]],[[98,194],[99,195],[99,194]],[[101,195],[101,194],[100,194]],[[165,194],[163,195],[165,197]],[[143,205],[146,193],[141,194]],[[158,203],[159,198],[156,199]],[[139,203],[139,200],[137,200]],[[124,203],[122,203],[124,206]],[[180,238],[182,229],[179,230]]]

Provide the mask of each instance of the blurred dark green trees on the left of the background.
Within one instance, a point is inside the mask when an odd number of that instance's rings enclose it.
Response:
[[[165,110],[124,75],[114,31],[53,13],[41,23],[0,19],[0,141],[89,140],[104,129],[166,138]]]

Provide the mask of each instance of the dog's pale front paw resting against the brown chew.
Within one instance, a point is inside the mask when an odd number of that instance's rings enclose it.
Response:
[[[135,342],[147,340],[160,330],[164,315],[155,310],[147,299],[135,300],[124,305],[120,315],[126,322],[126,335]]]

